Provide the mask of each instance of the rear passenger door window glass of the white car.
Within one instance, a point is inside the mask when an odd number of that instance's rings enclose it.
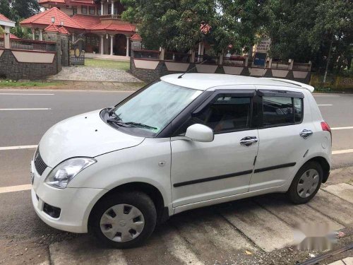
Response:
[[[302,98],[263,97],[263,126],[297,124],[302,119]]]

